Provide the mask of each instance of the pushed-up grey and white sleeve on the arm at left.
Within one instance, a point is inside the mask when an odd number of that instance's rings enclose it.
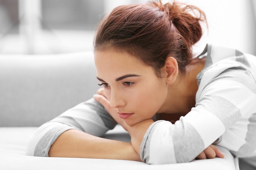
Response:
[[[40,126],[29,139],[27,155],[48,157],[51,145],[66,130],[77,129],[100,137],[116,124],[103,106],[92,98]]]

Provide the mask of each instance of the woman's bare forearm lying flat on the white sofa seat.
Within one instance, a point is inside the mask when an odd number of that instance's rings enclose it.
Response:
[[[61,134],[49,150],[49,157],[79,157],[141,161],[132,145],[95,137],[79,130]]]

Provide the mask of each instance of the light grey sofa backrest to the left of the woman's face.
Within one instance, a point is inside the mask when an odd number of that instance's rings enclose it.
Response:
[[[90,99],[93,52],[0,55],[0,126],[40,126]]]

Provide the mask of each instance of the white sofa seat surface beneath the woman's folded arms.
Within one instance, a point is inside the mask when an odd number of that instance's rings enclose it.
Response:
[[[31,157],[25,155],[27,141],[37,127],[2,127],[0,128],[0,169],[1,170],[238,170],[237,160],[225,148],[220,150],[225,158],[196,160],[190,163],[148,165],[136,161],[110,159],[82,159]],[[120,126],[107,132],[108,139],[130,141],[128,133]]]

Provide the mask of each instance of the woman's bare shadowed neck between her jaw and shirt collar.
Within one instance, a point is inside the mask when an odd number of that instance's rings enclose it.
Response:
[[[186,115],[195,106],[195,95],[198,91],[196,76],[204,68],[205,59],[195,59],[186,67],[186,72],[180,74],[174,84],[168,88],[166,101],[159,113]]]

